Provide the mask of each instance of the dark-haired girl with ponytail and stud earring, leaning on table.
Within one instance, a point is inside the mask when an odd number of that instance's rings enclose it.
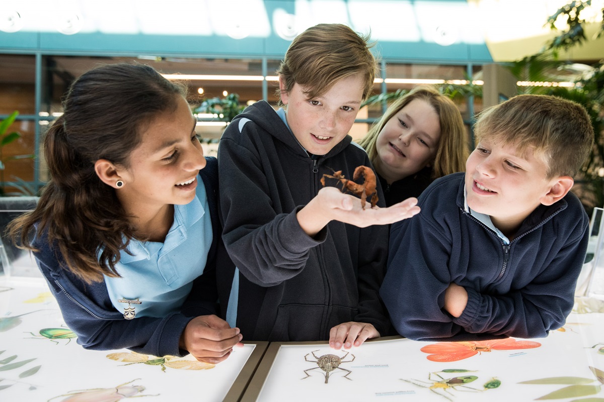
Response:
[[[217,363],[240,345],[216,316],[216,265],[232,263],[185,94],[141,64],[83,74],[44,140],[51,179],[9,226],[85,348]]]

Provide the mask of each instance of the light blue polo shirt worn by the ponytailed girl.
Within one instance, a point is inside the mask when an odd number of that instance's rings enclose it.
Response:
[[[130,240],[115,266],[120,278],[104,276],[109,298],[119,312],[136,300],[136,317],[164,317],[180,310],[204,272],[212,243],[212,222],[205,186],[198,175],[196,196],[188,204],[174,206],[172,227],[161,242]]]

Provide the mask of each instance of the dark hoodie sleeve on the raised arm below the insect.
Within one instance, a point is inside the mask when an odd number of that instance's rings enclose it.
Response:
[[[250,126],[254,124],[246,124],[242,135],[254,130]],[[220,140],[222,238],[231,259],[249,281],[274,286],[300,274],[310,248],[324,242],[327,229],[314,238],[304,233],[296,216],[301,206],[290,213],[275,212],[269,194],[271,172],[264,171],[259,155],[250,148],[228,136]]]

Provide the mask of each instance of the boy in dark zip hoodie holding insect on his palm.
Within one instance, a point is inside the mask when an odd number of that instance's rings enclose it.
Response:
[[[373,87],[376,60],[340,24],[300,34],[278,70],[277,111],[257,102],[226,128],[219,146],[225,246],[237,268],[218,269],[226,319],[245,339],[359,346],[386,333],[379,298],[388,224],[419,212],[416,199],[377,207],[321,185],[371,166],[347,135]],[[381,225],[381,226],[371,226]]]

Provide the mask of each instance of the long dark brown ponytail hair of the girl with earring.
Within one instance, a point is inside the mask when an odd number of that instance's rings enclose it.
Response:
[[[94,164],[107,159],[128,167],[141,131],[158,113],[176,110],[185,91],[143,64],[111,64],[77,78],[44,139],[50,181],[36,209],[9,224],[13,240],[36,250],[34,234],[47,235],[63,268],[87,283],[119,276],[115,264],[134,228]]]

